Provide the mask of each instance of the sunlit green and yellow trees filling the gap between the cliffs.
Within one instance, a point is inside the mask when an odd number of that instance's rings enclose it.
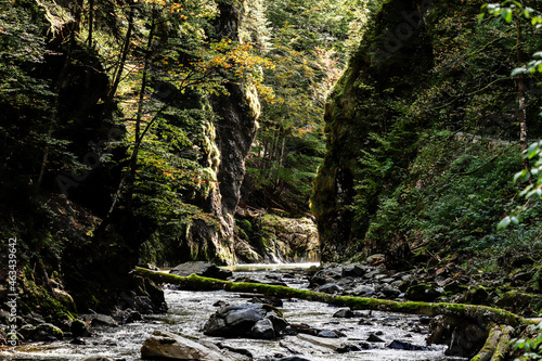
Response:
[[[308,210],[324,154],[325,99],[345,66],[357,5],[345,0],[256,1],[259,20],[251,20],[245,38],[259,39],[257,48],[273,67],[263,72],[260,130],[248,162],[253,202],[289,212]]]

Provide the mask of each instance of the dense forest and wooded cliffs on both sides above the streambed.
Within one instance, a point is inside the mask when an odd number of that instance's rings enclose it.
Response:
[[[160,311],[136,266],[370,259],[537,314],[541,8],[4,1],[0,275],[59,321]]]

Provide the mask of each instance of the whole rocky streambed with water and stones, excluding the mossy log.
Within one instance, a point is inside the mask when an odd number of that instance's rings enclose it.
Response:
[[[465,293],[451,293],[441,278],[429,281],[430,271],[395,271],[380,260],[374,255],[363,263],[257,272],[189,262],[172,272],[402,302],[460,299],[470,294],[465,285],[461,285]],[[486,325],[474,319],[459,322],[440,315],[358,311],[258,293],[190,291],[167,284],[164,296],[167,313],[149,313],[151,309],[142,308],[140,301],[139,309],[85,314],[59,326],[35,314],[20,328],[25,341],[2,349],[2,357],[75,360],[100,353],[113,360],[321,360],[333,354],[336,360],[447,360],[473,357],[488,336]]]

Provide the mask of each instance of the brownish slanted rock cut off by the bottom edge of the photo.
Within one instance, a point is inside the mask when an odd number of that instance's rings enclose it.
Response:
[[[144,360],[206,360],[229,361],[230,358],[202,344],[167,331],[156,330],[141,347]]]

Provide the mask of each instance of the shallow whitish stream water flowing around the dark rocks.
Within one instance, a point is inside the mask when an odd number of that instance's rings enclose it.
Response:
[[[263,269],[245,267],[235,269],[235,276],[251,279],[280,279],[289,286],[305,288],[308,282],[301,271],[295,267]],[[285,275],[284,272],[287,272]],[[299,275],[299,276],[296,276]],[[332,315],[337,308],[322,302],[305,300],[284,300],[281,311],[291,323],[305,323],[315,328],[341,332],[340,339],[351,345],[370,345],[370,349],[337,353],[328,348],[308,344],[296,336],[285,336],[275,340],[256,340],[247,338],[224,339],[203,335],[202,326],[216,311],[215,302],[219,300],[233,302],[245,301],[238,294],[217,292],[189,292],[178,289],[165,291],[169,312],[158,315],[146,315],[137,323],[119,327],[94,328],[93,337],[86,339],[86,345],[72,345],[70,339],[54,343],[33,343],[17,347],[0,349],[0,360],[82,360],[89,356],[109,356],[116,360],[141,360],[140,349],[143,341],[155,330],[180,333],[196,339],[210,340],[216,344],[248,350],[254,360],[266,360],[286,356],[304,357],[309,360],[358,360],[358,361],[449,361],[465,360],[443,354],[444,347],[431,345],[428,350],[408,351],[387,348],[392,340],[408,341],[425,346],[428,326],[420,322],[420,317],[389,312],[358,312],[353,319],[337,319]],[[379,334],[385,343],[367,343],[371,333]]]

